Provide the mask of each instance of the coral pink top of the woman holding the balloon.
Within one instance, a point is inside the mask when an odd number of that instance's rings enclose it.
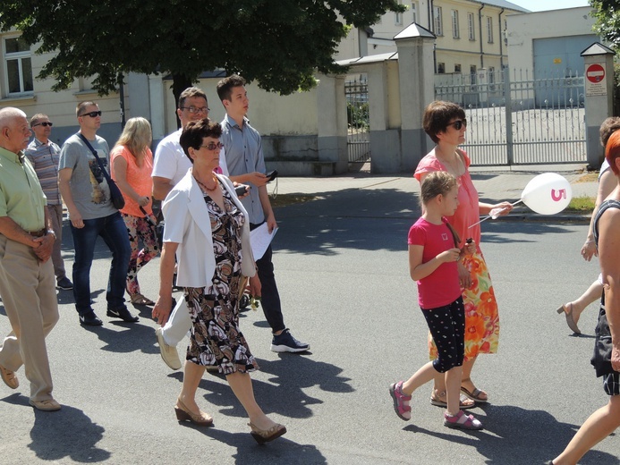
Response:
[[[478,199],[478,190],[473,187],[469,166],[471,164],[469,156],[463,150],[459,150],[463,156],[463,164],[465,165],[465,173],[459,176],[456,181],[459,185],[459,206],[454,212],[454,216],[448,216],[447,220],[452,224],[454,230],[461,239],[460,247],[463,247],[464,241],[471,237],[476,244],[480,244],[480,224],[476,224],[470,228],[471,224],[480,221],[480,206]],[[437,157],[430,153],[420,160],[418,167],[415,169],[413,176],[420,182],[420,178],[424,173],[432,173],[434,171],[447,171]]]

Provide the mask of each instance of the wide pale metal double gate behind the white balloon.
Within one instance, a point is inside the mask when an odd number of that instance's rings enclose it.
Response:
[[[567,164],[587,163],[583,89],[576,73],[534,80],[506,68],[437,75],[435,96],[465,109],[472,165]]]

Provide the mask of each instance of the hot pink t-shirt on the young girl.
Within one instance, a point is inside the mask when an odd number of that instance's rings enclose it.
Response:
[[[447,249],[454,249],[454,236],[446,224],[432,224],[424,218],[420,218],[412,225],[407,242],[409,245],[424,247],[422,263],[429,262]],[[456,262],[442,263],[434,272],[416,283],[421,309],[443,307],[461,295]]]

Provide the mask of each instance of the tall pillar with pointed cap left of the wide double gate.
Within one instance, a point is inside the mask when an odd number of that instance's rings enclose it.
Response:
[[[394,38],[398,50],[401,101],[399,172],[412,172],[432,142],[422,129],[424,108],[435,99],[435,35],[413,23]],[[374,153],[373,153],[374,156]]]

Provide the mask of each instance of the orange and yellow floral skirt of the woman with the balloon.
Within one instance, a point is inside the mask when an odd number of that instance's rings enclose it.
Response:
[[[465,303],[465,361],[480,353],[497,353],[499,315],[487,263],[480,248],[463,260],[471,274],[471,287],[463,290]],[[429,333],[429,357],[437,359],[437,348]]]

